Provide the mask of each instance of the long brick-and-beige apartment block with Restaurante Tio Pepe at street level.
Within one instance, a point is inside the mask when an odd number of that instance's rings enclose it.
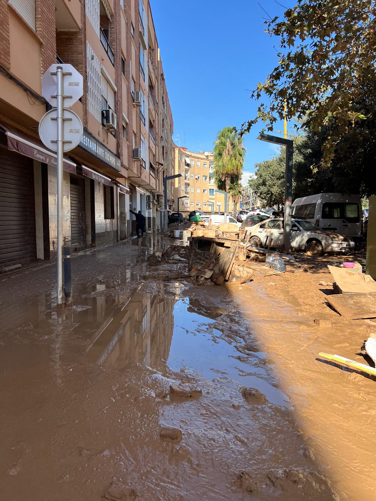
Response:
[[[160,224],[173,122],[148,0],[0,0],[0,9],[0,267],[56,253],[56,155],[38,137],[50,109],[41,77],[54,63],[84,77],[72,107],[84,134],[64,158],[65,244],[134,234],[129,209]]]

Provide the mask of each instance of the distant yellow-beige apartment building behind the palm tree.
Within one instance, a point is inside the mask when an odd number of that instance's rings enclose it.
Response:
[[[191,210],[202,210],[216,214],[225,211],[225,195],[217,193],[214,181],[214,157],[211,151],[194,153],[181,146],[175,147],[175,174],[181,174],[174,180],[174,206],[177,210],[189,214]],[[185,198],[178,197],[185,196]],[[214,205],[213,205],[214,204]],[[232,201],[229,198],[229,209],[232,212]]]

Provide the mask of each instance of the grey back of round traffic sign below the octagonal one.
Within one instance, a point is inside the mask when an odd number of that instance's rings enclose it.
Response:
[[[57,109],[45,113],[39,122],[39,136],[43,144],[50,148],[52,151],[57,151]],[[63,131],[64,131],[64,145],[63,151],[73,150],[81,141],[84,128],[80,117],[72,110],[63,109]]]

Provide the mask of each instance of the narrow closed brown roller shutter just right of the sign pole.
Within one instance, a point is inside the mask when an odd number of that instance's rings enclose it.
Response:
[[[85,181],[71,176],[71,235],[73,252],[86,246]]]

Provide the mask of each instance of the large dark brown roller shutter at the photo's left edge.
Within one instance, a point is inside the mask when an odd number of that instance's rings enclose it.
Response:
[[[0,148],[0,267],[35,259],[33,160]]]

